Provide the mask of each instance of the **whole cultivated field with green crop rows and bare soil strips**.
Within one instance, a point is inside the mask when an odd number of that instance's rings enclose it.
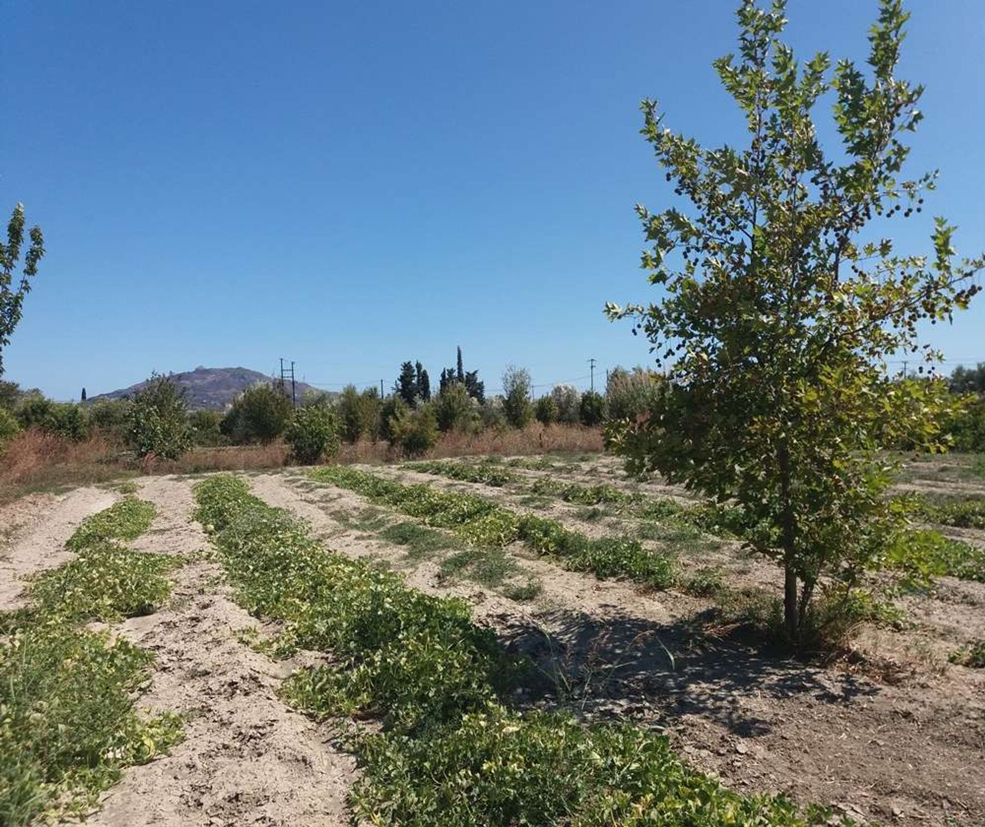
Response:
[[[985,823],[983,471],[907,466],[926,552],[796,658],[737,514],[604,456],[33,495],[0,823]]]

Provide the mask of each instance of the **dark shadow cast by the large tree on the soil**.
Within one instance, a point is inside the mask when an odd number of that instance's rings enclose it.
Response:
[[[709,638],[702,628],[710,616],[671,623],[572,611],[542,617],[543,625],[498,618],[507,649],[533,661],[524,691],[542,706],[617,719],[700,715],[753,737],[772,724],[756,714],[763,704],[750,699],[801,696],[848,706],[879,692],[864,678],[812,666],[761,641]]]

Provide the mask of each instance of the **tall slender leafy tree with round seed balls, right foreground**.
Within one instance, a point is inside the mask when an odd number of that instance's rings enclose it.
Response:
[[[744,149],[705,149],[643,102],[642,134],[686,201],[636,208],[661,300],[607,312],[635,320],[670,379],[649,417],[615,434],[617,450],[632,470],[735,500],[748,542],[784,569],[796,641],[821,576],[853,582],[896,530],[882,446],[939,438],[943,383],[895,381],[886,357],[939,357],[918,323],[950,321],[983,259],[955,261],[942,218],[930,256],[897,254],[883,236],[889,219],[921,212],[936,179],[897,177],[922,92],[894,75],[899,0],[879,4],[867,70],[832,69],[825,53],[798,63],[779,39],[784,11],[743,2],[739,55],[714,64],[745,115]],[[813,114],[824,95],[840,137],[830,153]]]

